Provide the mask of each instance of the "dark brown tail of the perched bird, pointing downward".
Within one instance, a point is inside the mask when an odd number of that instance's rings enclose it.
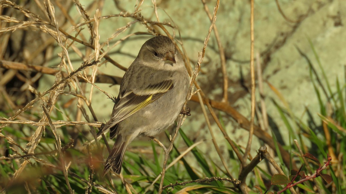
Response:
[[[118,134],[112,151],[106,160],[106,165],[104,165],[104,174],[106,174],[110,169],[112,169],[112,171],[115,173],[120,174],[122,159],[124,158],[124,154],[129,143],[129,136],[122,138],[121,135]]]

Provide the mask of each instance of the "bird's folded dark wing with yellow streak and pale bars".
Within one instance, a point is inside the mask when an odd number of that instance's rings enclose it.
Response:
[[[119,101],[113,108],[110,120],[99,130],[97,136],[101,135],[108,128],[133,115],[138,110],[148,106],[172,88],[173,80],[164,80],[161,83],[150,85],[142,90],[134,89],[125,91],[123,95],[119,95]]]

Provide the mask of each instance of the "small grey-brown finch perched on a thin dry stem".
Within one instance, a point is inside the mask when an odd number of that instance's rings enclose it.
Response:
[[[183,113],[189,85],[183,58],[170,38],[156,36],[143,44],[122,78],[109,121],[97,133],[110,129],[110,138],[116,137],[104,174],[110,169],[120,174],[126,148],[136,137],[155,136],[174,123]]]

